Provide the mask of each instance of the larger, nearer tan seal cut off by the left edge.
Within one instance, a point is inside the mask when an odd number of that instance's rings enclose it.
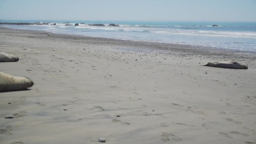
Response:
[[[26,77],[14,77],[0,72],[0,91],[19,91],[34,85],[33,81]]]

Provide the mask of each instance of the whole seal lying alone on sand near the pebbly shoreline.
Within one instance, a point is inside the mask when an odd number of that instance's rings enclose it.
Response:
[[[248,67],[244,64],[239,64],[236,61],[215,61],[215,62],[208,62],[203,66],[209,67],[221,67],[221,68],[228,68],[228,69],[248,69]]]

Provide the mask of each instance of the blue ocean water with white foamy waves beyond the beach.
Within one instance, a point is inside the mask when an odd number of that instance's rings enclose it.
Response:
[[[121,40],[141,40],[159,43],[203,45],[256,51],[256,22],[205,22],[205,21],[24,21],[0,22],[51,22],[53,25],[0,25],[16,29],[35,29],[47,32]],[[65,26],[65,22],[73,26]],[[80,24],[81,22],[85,24]],[[79,23],[79,26],[74,26]],[[110,23],[120,27],[107,26]],[[105,24],[105,27],[86,24]],[[217,24],[219,27],[212,27]]]

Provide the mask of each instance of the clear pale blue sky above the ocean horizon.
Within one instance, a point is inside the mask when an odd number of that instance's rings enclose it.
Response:
[[[256,21],[256,0],[0,0],[0,19]]]

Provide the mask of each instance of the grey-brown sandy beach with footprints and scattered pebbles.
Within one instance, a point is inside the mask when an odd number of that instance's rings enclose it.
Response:
[[[256,51],[4,27],[0,51],[35,83],[0,93],[0,144],[256,143]]]

